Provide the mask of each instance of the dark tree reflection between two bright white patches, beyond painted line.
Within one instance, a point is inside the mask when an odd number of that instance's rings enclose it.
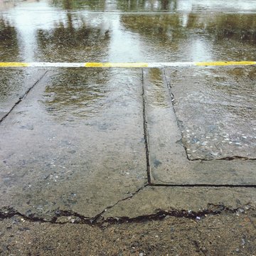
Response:
[[[94,61],[106,58],[110,42],[108,26],[90,26],[78,16],[67,14],[67,23],[50,30],[38,29],[37,58],[45,61]]]

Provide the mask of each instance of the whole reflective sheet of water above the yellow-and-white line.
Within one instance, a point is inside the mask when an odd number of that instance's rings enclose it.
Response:
[[[8,1],[1,61],[254,60],[255,11],[255,1]]]

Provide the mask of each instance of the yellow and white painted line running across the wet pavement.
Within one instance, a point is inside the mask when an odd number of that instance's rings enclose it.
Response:
[[[244,66],[256,61],[169,62],[169,63],[0,63],[0,68],[168,68],[192,66]]]

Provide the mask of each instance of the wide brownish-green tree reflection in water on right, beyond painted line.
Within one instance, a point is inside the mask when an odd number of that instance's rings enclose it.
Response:
[[[122,15],[139,33],[146,61],[254,60],[255,14]]]

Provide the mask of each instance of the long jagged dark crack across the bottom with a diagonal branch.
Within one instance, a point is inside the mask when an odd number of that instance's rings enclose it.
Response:
[[[142,190],[141,188],[140,190]],[[138,191],[139,192],[139,191]],[[131,198],[131,197],[129,197]],[[121,199],[120,201],[127,200],[128,198]],[[119,203],[120,201],[117,201]],[[109,206],[105,208],[105,210],[110,209],[117,205],[114,203],[113,206]],[[105,210],[102,213],[105,213]],[[39,222],[39,223],[51,223],[51,224],[87,224],[91,226],[97,226],[99,228],[104,228],[105,224],[115,225],[115,224],[122,224],[122,223],[144,223],[151,220],[164,220],[164,218],[170,216],[175,218],[188,218],[192,220],[199,221],[201,218],[206,218],[207,215],[219,215],[222,213],[235,213],[235,214],[244,214],[247,213],[246,210],[255,210],[250,203],[247,203],[245,206],[240,206],[238,208],[228,208],[222,204],[215,205],[212,203],[208,203],[206,209],[199,210],[198,212],[192,210],[159,210],[157,213],[150,214],[150,215],[139,215],[134,218],[129,218],[127,216],[122,217],[111,217],[111,218],[100,218],[102,213],[95,216],[95,218],[87,218],[79,213],[74,213],[68,210],[59,210],[55,212],[55,216],[51,220],[45,220],[43,218],[36,217],[35,215],[24,215],[19,213],[17,210],[11,207],[4,207],[0,210],[0,220],[4,220],[7,218],[12,218],[14,216],[20,216],[23,220],[28,220],[30,222]],[[65,221],[65,222],[58,222],[58,218],[60,217],[75,217],[73,222]]]

